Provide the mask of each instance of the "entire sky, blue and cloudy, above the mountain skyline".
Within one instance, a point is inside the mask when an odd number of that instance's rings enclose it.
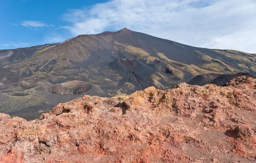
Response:
[[[0,0],[0,49],[124,27],[191,46],[256,53],[256,0]]]

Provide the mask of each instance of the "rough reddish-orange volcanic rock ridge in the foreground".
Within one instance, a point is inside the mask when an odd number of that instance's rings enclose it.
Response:
[[[1,163],[253,163],[256,79],[84,96],[0,124]]]

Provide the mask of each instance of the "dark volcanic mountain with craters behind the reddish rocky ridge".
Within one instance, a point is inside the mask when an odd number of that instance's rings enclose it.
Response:
[[[255,60],[256,54],[197,48],[126,28],[79,35],[27,59],[1,63],[0,112],[23,117],[37,112],[38,117],[84,94],[112,97],[149,86],[169,89],[209,73],[255,74]]]

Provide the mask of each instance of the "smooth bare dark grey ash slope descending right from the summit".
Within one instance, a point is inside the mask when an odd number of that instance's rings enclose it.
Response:
[[[116,40],[119,43],[127,43],[131,46],[145,49],[154,57],[157,57],[154,51],[154,49],[156,49],[157,51],[165,54],[170,60],[180,63],[198,65],[199,63],[204,62],[204,60],[198,58],[198,53],[171,40],[161,39],[148,34],[130,31],[128,29],[122,29],[111,34],[113,35],[113,40]]]

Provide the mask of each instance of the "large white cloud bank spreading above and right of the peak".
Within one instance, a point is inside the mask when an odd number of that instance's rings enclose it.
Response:
[[[124,27],[191,46],[256,53],[255,0],[111,0],[71,9],[73,35]]]

